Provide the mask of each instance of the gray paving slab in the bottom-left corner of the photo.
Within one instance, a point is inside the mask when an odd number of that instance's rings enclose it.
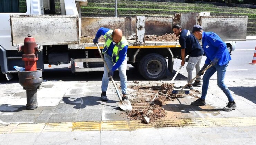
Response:
[[[0,143],[1,145],[33,145],[39,133],[11,133]]]

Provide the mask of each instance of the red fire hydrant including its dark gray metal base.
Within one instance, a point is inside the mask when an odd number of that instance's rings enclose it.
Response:
[[[18,71],[19,83],[26,90],[27,109],[34,110],[38,108],[37,89],[43,81],[42,69],[36,68],[38,55],[36,52],[41,51],[40,45],[37,45],[35,38],[27,35],[24,39],[24,45],[18,45],[17,50],[23,51],[22,60],[25,61],[25,71]]]

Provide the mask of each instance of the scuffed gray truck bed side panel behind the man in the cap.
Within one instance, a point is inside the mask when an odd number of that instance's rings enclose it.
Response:
[[[206,32],[217,33],[223,41],[245,41],[248,16],[201,16]]]

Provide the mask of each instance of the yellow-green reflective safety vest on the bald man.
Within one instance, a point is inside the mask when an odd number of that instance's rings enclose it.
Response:
[[[113,41],[113,38],[111,36],[112,33],[113,33],[113,30],[109,30],[104,35],[105,44],[104,44],[103,54],[105,52],[107,52],[108,47],[110,46],[110,44]],[[126,45],[128,45],[128,42],[126,41],[125,37],[122,37],[122,40],[118,44],[116,44],[114,49],[113,49],[113,53],[112,53],[112,61],[113,61],[113,63],[117,62],[117,60],[119,59],[119,51],[122,50]]]

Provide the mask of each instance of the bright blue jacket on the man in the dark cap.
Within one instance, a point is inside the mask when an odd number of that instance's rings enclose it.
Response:
[[[205,64],[210,64],[214,58],[219,59],[218,65],[225,65],[231,60],[227,45],[213,32],[203,32],[203,50],[206,55]]]

